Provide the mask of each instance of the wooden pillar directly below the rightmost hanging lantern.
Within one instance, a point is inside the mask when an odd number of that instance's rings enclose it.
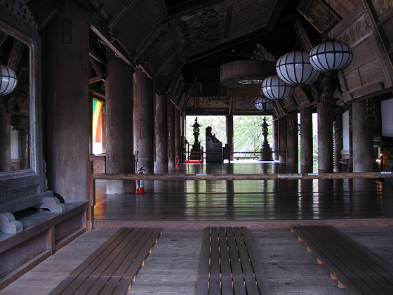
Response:
[[[317,103],[318,111],[318,171],[333,172],[333,122],[328,116],[328,103]]]

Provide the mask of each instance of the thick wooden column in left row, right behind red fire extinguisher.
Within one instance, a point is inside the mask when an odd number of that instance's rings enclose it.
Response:
[[[140,68],[133,74],[134,86],[134,152],[138,152],[137,169],[154,173],[154,105],[153,83]]]

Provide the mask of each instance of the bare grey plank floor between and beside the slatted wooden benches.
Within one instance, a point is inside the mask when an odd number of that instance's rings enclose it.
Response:
[[[0,291],[7,295],[48,294],[116,230],[86,232]],[[392,253],[393,228],[340,228],[375,256]],[[305,244],[288,229],[249,230],[273,294],[349,294],[331,280]],[[203,230],[163,230],[127,295],[196,294]],[[378,244],[377,240],[385,242]],[[387,256],[385,263],[393,266]],[[389,259],[388,259],[389,258]]]

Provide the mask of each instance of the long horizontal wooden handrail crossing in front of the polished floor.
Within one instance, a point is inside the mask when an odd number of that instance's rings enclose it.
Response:
[[[345,179],[345,178],[393,178],[392,172],[340,172],[340,173],[269,173],[269,174],[100,174],[93,179],[145,181],[241,181],[277,179]]]

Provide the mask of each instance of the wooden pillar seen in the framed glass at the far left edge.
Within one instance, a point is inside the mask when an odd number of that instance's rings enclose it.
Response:
[[[0,172],[11,171],[11,114],[3,103],[0,105],[0,138]]]

